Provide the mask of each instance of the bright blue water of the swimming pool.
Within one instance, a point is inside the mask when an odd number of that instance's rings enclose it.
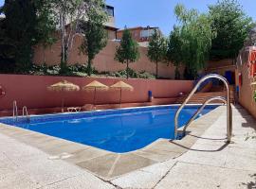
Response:
[[[207,106],[202,114],[217,106]],[[188,122],[198,106],[187,106],[180,113],[179,126]],[[112,152],[133,151],[159,138],[174,138],[174,114],[177,106],[113,110],[103,112],[61,113],[24,119],[0,119],[0,122],[63,138]]]

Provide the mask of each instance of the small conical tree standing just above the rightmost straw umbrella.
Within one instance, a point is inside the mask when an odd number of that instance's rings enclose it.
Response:
[[[126,78],[129,77],[129,63],[138,60],[138,58],[138,44],[132,39],[131,32],[124,29],[119,47],[116,50],[115,60],[126,63]]]

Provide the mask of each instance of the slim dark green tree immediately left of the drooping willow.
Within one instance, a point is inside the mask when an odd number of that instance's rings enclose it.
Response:
[[[175,79],[180,79],[179,66],[182,63],[182,41],[179,27],[174,26],[167,41],[166,60],[175,66]]]

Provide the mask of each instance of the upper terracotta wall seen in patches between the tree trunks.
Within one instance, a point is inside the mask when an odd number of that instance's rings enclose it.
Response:
[[[82,43],[82,37],[77,35],[74,39],[73,47],[70,52],[68,62],[71,64],[85,63],[86,56],[80,55],[79,46]],[[101,50],[94,60],[94,67],[99,72],[116,72],[125,69],[125,65],[114,60],[116,48],[119,43],[108,41],[107,46]],[[130,67],[137,71],[146,71],[151,74],[155,74],[155,63],[151,62],[147,58],[147,48],[139,47],[140,58],[137,62],[131,63]],[[61,61],[61,43],[55,43],[50,48],[45,50],[42,46],[35,48],[35,54],[33,61],[37,64],[44,62],[44,55],[46,57],[46,64],[56,65]],[[181,76],[183,76],[183,69],[180,70]],[[158,66],[159,77],[174,78],[174,66],[167,65],[166,63],[159,63]]]

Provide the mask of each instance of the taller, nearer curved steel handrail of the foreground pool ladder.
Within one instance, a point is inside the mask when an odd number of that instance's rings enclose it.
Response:
[[[229,82],[225,77],[222,77],[217,74],[210,74],[205,77],[202,77],[197,84],[194,86],[192,89],[191,94],[188,95],[188,97],[185,99],[185,101],[181,104],[177,112],[175,113],[175,118],[174,118],[174,139],[177,138],[177,129],[178,129],[178,116],[181,110],[184,108],[184,106],[189,102],[191,99],[192,95],[196,92],[198,87],[207,79],[209,78],[218,78],[222,80],[226,86],[227,89],[227,136],[228,136],[228,142],[231,141],[231,135],[232,135],[232,115],[231,115],[231,106],[230,106],[230,90],[229,90]]]

